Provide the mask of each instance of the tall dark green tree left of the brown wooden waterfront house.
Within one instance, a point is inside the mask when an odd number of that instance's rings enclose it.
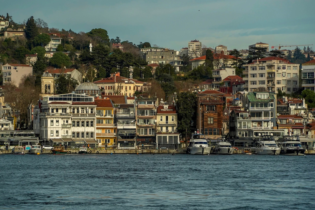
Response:
[[[190,133],[192,116],[196,109],[196,100],[196,95],[190,93],[189,91],[181,92],[176,96],[176,112],[178,119],[177,129],[182,134],[182,136],[186,135],[187,137],[187,134]]]

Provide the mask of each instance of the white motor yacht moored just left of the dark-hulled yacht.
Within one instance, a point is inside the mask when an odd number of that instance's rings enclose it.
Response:
[[[279,155],[280,148],[273,139],[273,135],[262,135],[256,142],[255,153],[259,155]]]

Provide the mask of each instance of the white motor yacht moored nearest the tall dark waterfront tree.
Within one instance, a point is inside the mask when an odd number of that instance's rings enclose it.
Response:
[[[207,139],[201,133],[195,133],[189,140],[187,153],[192,155],[209,155],[211,147],[209,147]]]

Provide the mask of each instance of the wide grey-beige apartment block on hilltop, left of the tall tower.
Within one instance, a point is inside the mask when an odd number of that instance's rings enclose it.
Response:
[[[170,64],[174,66],[176,71],[179,71],[179,67],[183,66],[180,52],[168,48],[141,48],[140,55],[148,64]]]

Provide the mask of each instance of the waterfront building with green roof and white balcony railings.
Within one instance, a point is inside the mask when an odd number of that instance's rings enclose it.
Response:
[[[276,94],[271,92],[249,92],[243,98],[244,109],[249,112],[254,137],[259,133],[274,132],[276,128]],[[275,135],[275,133],[273,133]],[[278,135],[275,135],[278,136]]]

